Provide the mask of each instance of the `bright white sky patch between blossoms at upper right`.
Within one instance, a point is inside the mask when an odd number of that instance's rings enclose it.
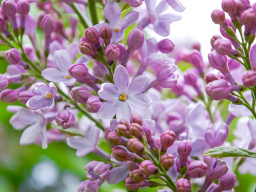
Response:
[[[197,41],[201,44],[201,51],[204,60],[211,51],[210,40],[212,35],[220,35],[220,27],[211,20],[211,13],[214,9],[221,10],[222,0],[180,0],[186,10],[182,13],[172,11],[182,15],[182,19],[173,22],[170,25],[171,33],[168,38],[172,40],[177,47],[191,47],[193,42]],[[250,1],[251,5],[256,0]],[[156,36],[155,34],[150,37]],[[163,37],[157,37],[161,40]]]

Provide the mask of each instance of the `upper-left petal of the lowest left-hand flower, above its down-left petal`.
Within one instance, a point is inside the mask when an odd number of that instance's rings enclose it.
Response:
[[[36,122],[40,122],[40,116],[36,115],[29,109],[19,109],[18,111],[18,117],[20,121],[22,121],[24,124],[31,125],[35,124]]]

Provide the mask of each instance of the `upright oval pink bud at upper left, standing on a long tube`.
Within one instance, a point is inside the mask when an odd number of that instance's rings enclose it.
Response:
[[[40,26],[41,26],[42,30],[44,31],[45,36],[50,37],[51,33],[56,28],[56,23],[55,23],[52,15],[51,14],[47,14],[41,20]]]

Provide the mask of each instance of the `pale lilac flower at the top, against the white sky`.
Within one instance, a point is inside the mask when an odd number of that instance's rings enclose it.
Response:
[[[141,28],[145,28],[148,24],[153,24],[154,31],[161,36],[168,36],[170,34],[170,24],[173,21],[180,20],[180,15],[173,13],[163,13],[168,8],[165,0],[162,0],[157,6],[155,0],[145,0],[147,5],[148,15],[141,20]]]

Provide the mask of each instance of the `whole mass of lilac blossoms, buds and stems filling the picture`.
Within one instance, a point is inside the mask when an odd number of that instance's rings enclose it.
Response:
[[[255,120],[248,117],[256,118],[255,4],[223,0],[223,11],[212,12],[223,37],[211,38],[208,63],[200,44],[170,58],[175,50],[170,39],[145,37],[146,28],[170,34],[170,24],[181,17],[168,9],[185,10],[179,0],[120,2],[2,1],[0,39],[10,65],[0,74],[0,100],[15,113],[13,128],[26,128],[20,145],[47,148],[51,141],[66,141],[79,157],[99,156],[102,161],[86,164],[79,192],[122,180],[130,191],[232,190],[235,173],[252,172],[255,162],[202,155],[231,145],[227,138],[235,118],[234,145],[255,150]],[[40,10],[36,19],[31,6]],[[31,44],[24,44],[24,37]],[[182,72],[184,62],[191,67]],[[225,121],[223,99],[232,102]],[[99,140],[109,143],[111,154]]]

